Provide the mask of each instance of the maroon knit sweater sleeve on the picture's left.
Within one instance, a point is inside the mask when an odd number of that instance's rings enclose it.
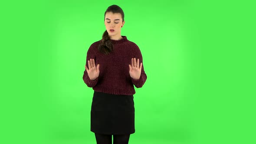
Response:
[[[95,52],[93,51],[93,45],[91,45],[87,51],[87,56],[86,56],[86,63],[85,65],[87,66],[87,68],[89,68],[89,65],[88,65],[88,60],[90,59],[94,59],[95,60],[95,64],[96,64],[96,56],[95,56]],[[97,64],[96,64],[97,65]],[[85,68],[85,67],[84,67]],[[96,78],[95,80],[91,80],[89,78],[89,75],[85,69],[84,71],[84,74],[83,74],[83,81],[85,82],[85,84],[88,86],[88,87],[94,87],[97,82],[98,82],[98,78]]]

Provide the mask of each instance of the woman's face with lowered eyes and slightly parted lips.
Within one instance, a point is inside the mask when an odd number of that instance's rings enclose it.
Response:
[[[121,26],[125,24],[125,21],[122,22],[121,13],[107,12],[104,23],[109,36],[121,36]]]

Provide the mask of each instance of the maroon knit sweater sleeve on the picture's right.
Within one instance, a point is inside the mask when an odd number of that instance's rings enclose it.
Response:
[[[136,88],[141,88],[147,80],[147,75],[144,71],[144,64],[143,64],[143,59],[142,59],[142,55],[141,55],[141,50],[139,49],[139,47],[137,45],[135,46],[133,56],[134,56],[133,58],[136,58],[136,62],[137,62],[137,59],[139,59],[140,64],[142,62],[142,68],[141,68],[140,78],[139,79],[131,78],[131,82],[135,85]]]

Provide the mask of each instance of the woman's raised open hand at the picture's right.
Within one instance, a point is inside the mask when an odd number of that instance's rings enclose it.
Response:
[[[130,76],[132,79],[140,79],[141,77],[141,68],[142,68],[142,62],[141,65],[139,65],[139,59],[136,62],[135,58],[131,59],[131,65],[129,64],[130,67]]]

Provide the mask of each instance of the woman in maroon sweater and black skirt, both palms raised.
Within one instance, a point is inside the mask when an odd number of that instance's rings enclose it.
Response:
[[[87,51],[83,80],[94,90],[91,131],[97,144],[112,144],[112,135],[114,144],[128,144],[135,133],[134,85],[141,88],[147,79],[139,47],[121,36],[124,17],[117,5],[108,7],[106,31]]]

